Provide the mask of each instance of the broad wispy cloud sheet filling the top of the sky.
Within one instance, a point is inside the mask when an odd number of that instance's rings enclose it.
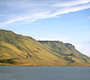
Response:
[[[30,23],[88,8],[89,0],[0,0],[0,24]]]

